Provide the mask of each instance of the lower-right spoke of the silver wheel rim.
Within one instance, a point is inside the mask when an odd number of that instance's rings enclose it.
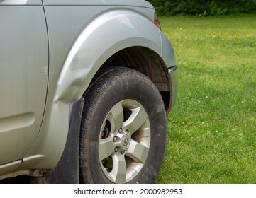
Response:
[[[126,156],[129,156],[137,163],[145,163],[148,157],[149,148],[143,144],[140,144],[138,141],[132,140],[130,146],[126,153]]]

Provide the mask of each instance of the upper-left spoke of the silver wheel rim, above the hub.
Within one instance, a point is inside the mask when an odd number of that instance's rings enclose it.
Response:
[[[111,127],[118,129],[123,124],[123,107],[122,103],[114,105],[108,115],[108,120],[111,122]]]

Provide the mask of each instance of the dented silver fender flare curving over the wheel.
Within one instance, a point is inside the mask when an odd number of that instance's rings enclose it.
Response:
[[[155,25],[133,11],[110,11],[84,28],[69,51],[57,81],[55,102],[82,97],[96,71],[126,47],[143,46],[162,54],[162,38]]]

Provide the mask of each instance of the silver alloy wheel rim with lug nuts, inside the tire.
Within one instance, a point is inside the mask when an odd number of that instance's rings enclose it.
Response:
[[[122,100],[108,112],[99,136],[99,162],[114,183],[133,180],[143,168],[150,148],[150,121],[135,100]]]

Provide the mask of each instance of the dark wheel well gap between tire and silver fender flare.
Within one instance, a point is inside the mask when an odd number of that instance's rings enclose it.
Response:
[[[145,74],[160,91],[165,109],[169,109],[170,89],[165,63],[152,50],[145,47],[128,47],[113,54],[103,66],[126,66]]]

